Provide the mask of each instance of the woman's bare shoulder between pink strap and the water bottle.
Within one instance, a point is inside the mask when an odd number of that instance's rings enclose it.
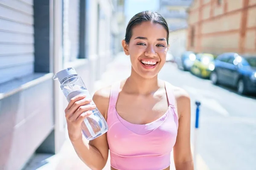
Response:
[[[93,102],[99,109],[100,113],[107,119],[108,104],[110,98],[111,85],[97,90],[93,94]]]

